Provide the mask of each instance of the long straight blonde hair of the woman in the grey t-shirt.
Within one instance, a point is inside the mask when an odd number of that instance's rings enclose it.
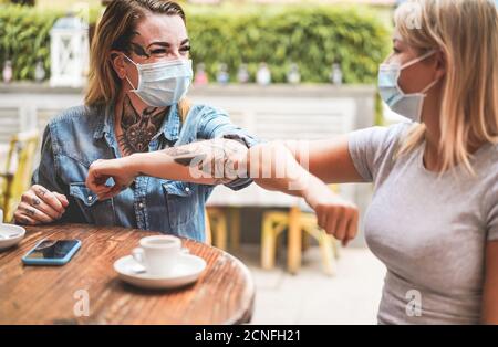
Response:
[[[470,165],[469,146],[498,141],[498,12],[490,0],[412,0],[395,12],[403,41],[422,53],[443,52],[439,153],[442,172]],[[403,139],[398,155],[423,143],[425,125]]]

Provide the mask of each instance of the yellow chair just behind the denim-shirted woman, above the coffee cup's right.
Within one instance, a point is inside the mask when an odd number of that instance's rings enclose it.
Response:
[[[212,234],[212,244],[226,251],[228,241],[230,241],[230,249],[237,251],[240,245],[239,209],[208,207],[207,214]]]

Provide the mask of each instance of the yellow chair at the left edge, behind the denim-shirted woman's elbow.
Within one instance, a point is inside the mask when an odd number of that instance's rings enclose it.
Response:
[[[4,221],[12,220],[15,206],[30,187],[38,143],[39,133],[35,130],[19,133],[10,140],[7,165],[0,172],[0,207]]]

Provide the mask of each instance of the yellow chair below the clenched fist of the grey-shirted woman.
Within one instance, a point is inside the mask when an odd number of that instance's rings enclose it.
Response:
[[[331,187],[338,191],[336,186]],[[314,213],[305,213],[299,207],[292,207],[289,212],[267,211],[262,217],[261,266],[266,270],[274,267],[277,241],[283,231],[288,231],[287,267],[292,274],[299,271],[303,245],[311,236],[319,243],[323,270],[326,274],[335,273],[335,260],[339,259],[338,241],[317,224]]]

